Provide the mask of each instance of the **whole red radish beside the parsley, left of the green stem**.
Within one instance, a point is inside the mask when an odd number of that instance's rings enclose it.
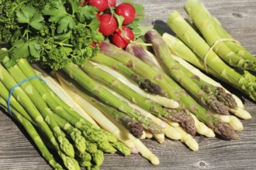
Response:
[[[102,32],[103,36],[110,36],[118,28],[116,18],[110,14],[103,14],[99,18],[100,26],[99,32]]]

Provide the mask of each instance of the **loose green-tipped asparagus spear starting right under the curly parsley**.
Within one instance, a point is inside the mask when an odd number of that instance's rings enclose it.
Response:
[[[111,104],[118,110],[123,111],[130,117],[139,121],[143,127],[149,131],[154,131],[156,133],[161,133],[161,128],[159,128],[152,120],[147,117],[142,116],[137,110],[125,104],[123,101],[119,100],[108,90],[102,88],[99,83],[96,83],[88,75],[86,75],[78,66],[73,63],[67,64],[64,67],[64,72],[66,72],[72,79],[85,87],[90,93],[93,93],[96,97],[99,97],[104,102]]]

